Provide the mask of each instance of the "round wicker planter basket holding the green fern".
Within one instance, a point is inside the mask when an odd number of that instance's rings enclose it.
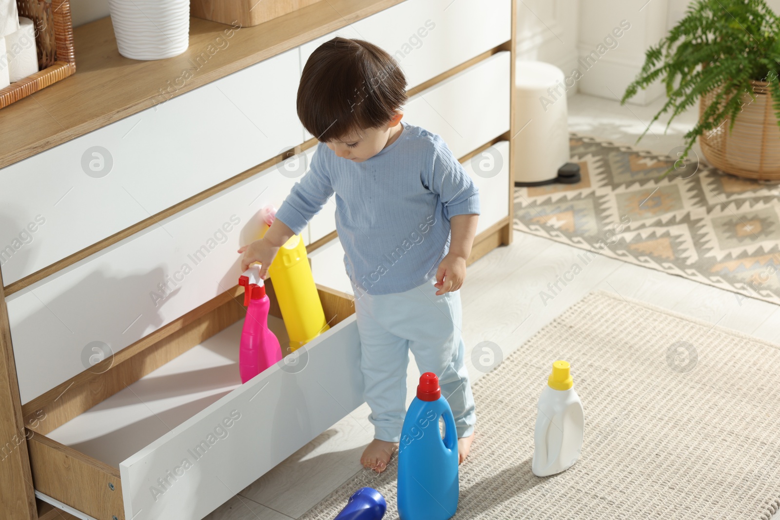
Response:
[[[734,120],[729,132],[730,119],[700,137],[704,157],[723,172],[748,179],[780,181],[780,128],[772,110],[768,83],[753,81],[757,94],[752,101],[744,95],[743,111]],[[701,97],[699,115],[712,103],[717,91]]]

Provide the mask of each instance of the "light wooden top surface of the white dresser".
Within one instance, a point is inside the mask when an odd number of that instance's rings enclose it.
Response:
[[[181,55],[151,62],[119,55],[110,17],[77,27],[73,31],[76,73],[0,109],[0,168],[400,2],[324,0],[255,27],[238,29],[190,18],[190,47]],[[229,38],[225,30],[232,30]],[[220,42],[222,48],[214,52],[218,37],[228,44]],[[214,45],[214,54],[196,69],[195,58],[209,45]],[[187,69],[194,71],[191,77],[183,76]],[[187,79],[182,81],[183,77]],[[161,90],[177,80],[183,86],[172,87],[172,94]]]

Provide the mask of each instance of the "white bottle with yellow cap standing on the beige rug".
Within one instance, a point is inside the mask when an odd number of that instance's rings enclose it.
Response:
[[[555,475],[572,467],[580,458],[583,426],[583,405],[574,391],[569,363],[556,361],[537,406],[534,475]]]

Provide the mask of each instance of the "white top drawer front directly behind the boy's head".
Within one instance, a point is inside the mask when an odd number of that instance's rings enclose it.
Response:
[[[406,0],[301,45],[301,68],[325,41],[335,36],[359,38],[393,55],[408,87],[417,87],[509,41],[511,12],[509,0]]]

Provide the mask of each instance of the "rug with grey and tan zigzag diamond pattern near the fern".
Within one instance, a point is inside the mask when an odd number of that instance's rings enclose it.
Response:
[[[583,180],[515,189],[521,232],[780,304],[780,186],[573,135]],[[678,151],[682,151],[680,148]]]

